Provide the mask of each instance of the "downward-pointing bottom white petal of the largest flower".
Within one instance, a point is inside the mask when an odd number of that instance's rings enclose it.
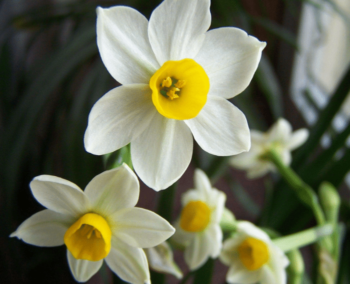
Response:
[[[131,161],[139,178],[159,191],[172,185],[187,169],[193,138],[183,121],[158,113],[149,125],[131,142]]]

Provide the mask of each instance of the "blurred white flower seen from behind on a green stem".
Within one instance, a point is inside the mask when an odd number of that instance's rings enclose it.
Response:
[[[275,166],[271,162],[260,159],[260,156],[269,149],[277,152],[284,165],[290,165],[290,152],[306,141],[308,130],[301,128],[293,132],[290,123],[284,118],[279,118],[267,132],[251,130],[250,137],[250,150],[231,157],[229,164],[234,168],[245,170],[247,177],[252,179],[275,171]]]

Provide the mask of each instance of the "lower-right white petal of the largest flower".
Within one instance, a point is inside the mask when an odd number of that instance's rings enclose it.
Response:
[[[198,115],[184,122],[199,146],[210,154],[230,156],[250,148],[249,127],[244,114],[224,98],[208,96]]]

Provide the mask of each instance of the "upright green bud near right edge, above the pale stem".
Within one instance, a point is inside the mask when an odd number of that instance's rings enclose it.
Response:
[[[340,197],[336,189],[328,182],[322,182],[318,189],[326,221],[336,223],[340,206]]]

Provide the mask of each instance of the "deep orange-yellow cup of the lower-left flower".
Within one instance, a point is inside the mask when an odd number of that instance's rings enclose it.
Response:
[[[77,260],[99,261],[110,251],[111,231],[103,217],[87,213],[64,234],[64,244]]]

